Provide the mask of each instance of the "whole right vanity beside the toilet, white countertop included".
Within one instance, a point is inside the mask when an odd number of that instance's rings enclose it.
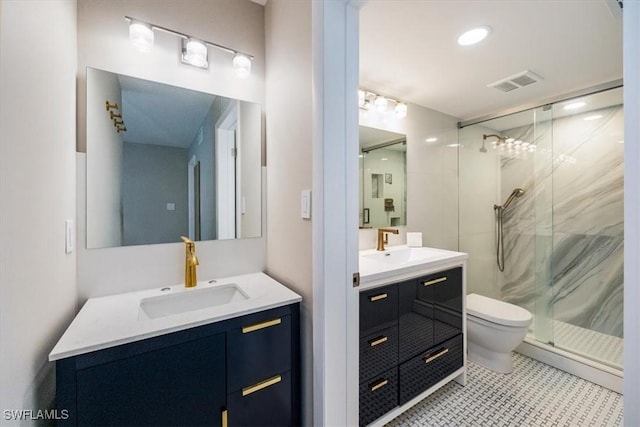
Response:
[[[383,425],[451,380],[466,384],[467,254],[360,252],[360,425]]]

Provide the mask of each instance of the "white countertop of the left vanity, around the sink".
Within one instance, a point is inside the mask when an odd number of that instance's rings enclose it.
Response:
[[[229,283],[238,284],[249,298],[156,319],[139,315],[140,301],[144,298],[190,292]],[[183,284],[169,288],[170,290],[161,291],[158,287],[89,299],[49,353],[49,360],[77,356],[302,300],[298,294],[264,273],[216,279],[215,283],[202,281],[198,282],[195,288],[189,289]]]

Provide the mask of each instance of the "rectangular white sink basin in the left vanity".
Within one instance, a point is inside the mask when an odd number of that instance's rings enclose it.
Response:
[[[140,300],[139,318],[156,319],[249,299],[249,296],[235,283],[169,292],[171,293],[167,295]]]

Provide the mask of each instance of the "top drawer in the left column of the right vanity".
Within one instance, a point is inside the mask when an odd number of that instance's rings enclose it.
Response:
[[[375,328],[397,323],[398,285],[393,284],[360,293],[360,332],[369,335]]]

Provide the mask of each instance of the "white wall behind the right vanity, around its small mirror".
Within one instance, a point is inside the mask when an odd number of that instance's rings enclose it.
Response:
[[[458,150],[448,147],[457,143],[457,123],[416,104],[400,119],[360,110],[361,125],[407,136],[407,226],[389,236],[390,245],[406,242],[405,231],[420,231],[423,246],[458,249]],[[438,140],[426,142],[432,137]],[[375,240],[376,230],[360,230],[360,249],[374,248]]]

